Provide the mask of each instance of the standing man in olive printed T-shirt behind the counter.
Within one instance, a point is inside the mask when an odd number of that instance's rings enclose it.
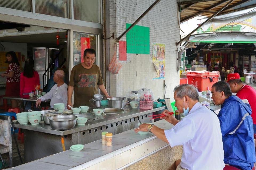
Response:
[[[83,53],[84,62],[73,67],[67,91],[67,105],[73,107],[71,97],[74,91],[74,107],[89,106],[89,100],[98,94],[98,87],[103,94],[110,97],[103,84],[101,70],[94,65],[96,52],[88,48]],[[69,107],[67,107],[70,109]]]

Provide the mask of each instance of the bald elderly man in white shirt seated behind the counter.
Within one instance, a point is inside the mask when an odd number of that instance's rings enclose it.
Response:
[[[48,93],[39,97],[35,103],[36,107],[38,107],[38,105],[40,106],[43,100],[51,99],[51,108],[54,107],[55,103],[65,103],[65,110],[67,110],[67,84],[64,82],[64,76],[63,70],[55,71],[53,80],[57,84],[55,84]]]

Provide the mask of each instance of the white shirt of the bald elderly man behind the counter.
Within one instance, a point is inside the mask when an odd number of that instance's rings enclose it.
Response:
[[[67,84],[64,83],[59,87],[55,84],[48,93],[39,97],[39,99],[42,101],[51,99],[51,108],[54,108],[55,103],[65,103],[65,110],[67,110]]]

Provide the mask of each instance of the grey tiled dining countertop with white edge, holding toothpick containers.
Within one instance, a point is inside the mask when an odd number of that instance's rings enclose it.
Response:
[[[154,122],[154,124],[162,129],[170,129],[173,127],[173,125],[167,122],[166,120],[160,120]],[[74,167],[75,169],[85,169],[87,167],[98,164],[104,160],[115,157],[116,155],[122,154],[128,150],[131,150],[135,147],[141,146],[146,143],[147,149],[150,149],[148,148],[149,144],[152,145],[154,144],[154,142],[157,142],[153,141],[155,139],[157,139],[157,137],[152,133],[142,136],[139,135],[138,133],[135,133],[134,129],[131,129],[123,133],[113,135],[113,146],[102,145],[101,140],[98,140],[84,145],[83,150],[80,152],[73,152],[71,150],[67,150],[9,169],[30,170],[34,169],[35,167],[38,170],[66,170]],[[153,141],[153,143],[149,143],[150,141]],[[156,143],[155,145],[153,145],[153,150],[157,150],[157,148],[165,147],[168,145],[168,143],[166,142],[161,142],[160,139],[158,140],[158,142],[160,142],[161,144]],[[148,153],[145,153],[146,151],[144,150],[142,152],[144,152],[144,156],[150,153],[149,151]]]

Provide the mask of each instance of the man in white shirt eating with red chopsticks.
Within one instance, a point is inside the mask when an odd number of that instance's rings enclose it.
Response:
[[[185,116],[181,121],[165,110],[165,119],[174,127],[169,130],[151,124],[135,129],[150,131],[171,147],[183,145],[181,159],[175,162],[177,170],[222,170],[224,151],[222,135],[216,114],[198,102],[197,88],[182,84],[174,88],[175,106]]]

